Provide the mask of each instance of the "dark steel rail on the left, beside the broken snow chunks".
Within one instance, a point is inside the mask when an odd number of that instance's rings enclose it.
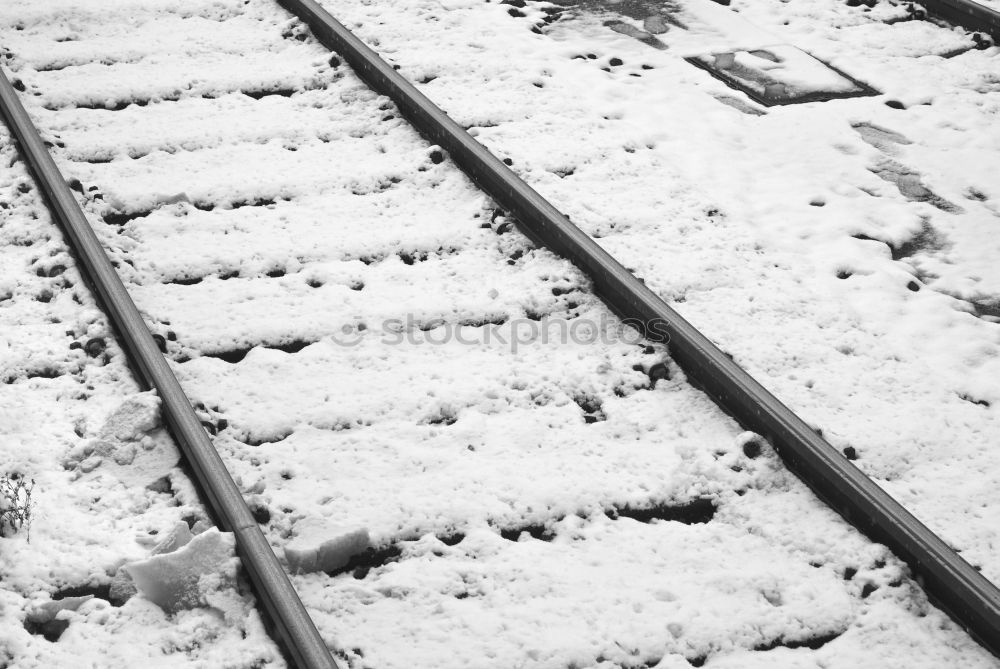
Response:
[[[159,394],[165,422],[191,465],[206,506],[223,530],[235,534],[237,554],[292,659],[299,669],[337,669],[326,643],[2,68],[0,114],[17,138],[25,162],[66,233],[141,381]]]

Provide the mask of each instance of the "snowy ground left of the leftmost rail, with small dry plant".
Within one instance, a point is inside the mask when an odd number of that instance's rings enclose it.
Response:
[[[35,481],[30,527],[0,538],[0,666],[284,666],[234,587],[174,616],[109,591],[205,511],[5,128],[0,155],[0,472]]]

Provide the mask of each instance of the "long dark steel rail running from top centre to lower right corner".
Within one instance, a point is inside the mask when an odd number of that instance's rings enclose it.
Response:
[[[278,2],[369,86],[391,98],[418,131],[447,150],[480,188],[517,217],[530,237],[585,272],[609,307],[641,322],[651,338],[668,341],[674,360],[691,381],[743,426],[767,438],[787,465],[848,522],[904,559],[937,603],[1000,655],[996,586],[319,4]]]

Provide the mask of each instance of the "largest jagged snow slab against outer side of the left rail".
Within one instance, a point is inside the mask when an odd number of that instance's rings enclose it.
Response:
[[[232,533],[213,527],[172,553],[133,562],[125,569],[146,599],[174,613],[206,604],[211,587],[235,578],[239,563],[233,557],[235,545]]]

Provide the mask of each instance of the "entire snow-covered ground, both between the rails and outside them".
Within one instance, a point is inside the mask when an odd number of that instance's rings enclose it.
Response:
[[[326,6],[996,579],[998,50],[927,55],[971,42],[888,5],[735,2]],[[348,666],[997,666],[272,3],[12,2],[0,30],[278,554],[319,520],[380,549],[293,579]],[[682,58],[767,47],[886,95],[764,113]],[[58,237],[2,174],[0,447],[40,491],[31,542],[0,539],[3,661],[280,666],[231,588],[24,631],[204,514],[120,352],[66,349],[103,321],[59,242],[17,241]],[[72,289],[37,276],[50,247]],[[91,468],[123,403],[172,494]]]

